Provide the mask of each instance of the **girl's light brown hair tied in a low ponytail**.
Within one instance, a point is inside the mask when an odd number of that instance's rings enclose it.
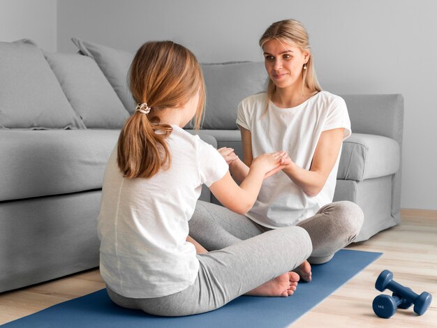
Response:
[[[149,114],[135,111],[126,120],[118,141],[117,164],[126,178],[150,178],[171,164],[165,138],[172,133],[159,124],[158,112],[177,108],[199,95],[195,113],[198,129],[205,107],[205,82],[194,54],[172,41],[147,42],[140,47],[129,69],[133,98],[147,103]]]

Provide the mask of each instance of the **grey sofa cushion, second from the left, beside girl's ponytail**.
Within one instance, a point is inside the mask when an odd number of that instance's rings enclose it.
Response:
[[[96,61],[80,54],[44,52],[73,110],[87,128],[121,128],[129,113]]]

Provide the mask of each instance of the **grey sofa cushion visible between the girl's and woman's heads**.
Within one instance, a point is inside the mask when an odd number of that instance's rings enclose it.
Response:
[[[262,62],[202,64],[207,104],[202,129],[236,130],[237,107],[244,98],[265,91]]]

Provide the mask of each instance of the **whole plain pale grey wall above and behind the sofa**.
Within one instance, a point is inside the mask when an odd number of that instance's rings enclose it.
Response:
[[[47,50],[53,47],[50,40],[56,28],[45,38],[40,33],[45,24],[52,26],[54,1],[40,0],[38,6],[31,0],[0,1],[0,39],[26,36]],[[3,12],[3,3],[9,13]],[[58,0],[57,12],[59,51],[76,51],[72,36],[131,52],[147,40],[172,39],[202,62],[259,61],[262,31],[276,20],[300,20],[310,33],[324,89],[338,94],[403,94],[401,206],[437,209],[437,2]]]

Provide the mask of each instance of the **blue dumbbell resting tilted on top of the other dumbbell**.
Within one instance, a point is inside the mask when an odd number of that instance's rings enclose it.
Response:
[[[391,290],[398,297],[410,301],[414,304],[413,309],[418,315],[424,314],[431,305],[432,295],[429,292],[422,292],[422,294],[417,295],[410,288],[403,287],[403,285],[394,281],[392,272],[388,270],[380,273],[378,279],[376,279],[375,288],[380,292],[383,292],[385,289]]]

